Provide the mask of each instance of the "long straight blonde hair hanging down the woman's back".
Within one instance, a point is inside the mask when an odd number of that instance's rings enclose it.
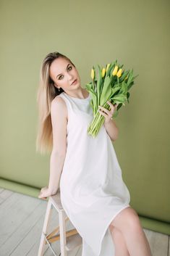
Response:
[[[40,83],[37,91],[37,103],[38,103],[38,131],[36,137],[36,152],[44,154],[51,152],[53,147],[53,134],[51,124],[51,102],[55,96],[61,94],[64,90],[60,88],[60,91],[54,86],[54,81],[49,75],[49,69],[54,59],[59,57],[71,60],[64,54],[60,54],[58,51],[51,52],[46,55],[41,64],[40,71]],[[75,67],[75,65],[72,63]]]

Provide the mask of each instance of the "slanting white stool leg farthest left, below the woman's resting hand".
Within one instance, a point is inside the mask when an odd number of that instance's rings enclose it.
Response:
[[[39,249],[38,249],[38,256],[43,256],[43,248],[44,248],[45,241],[46,241],[43,234],[46,234],[50,215],[51,215],[51,199],[48,199],[48,204],[47,204],[47,208],[46,208],[46,216],[45,216],[45,219],[44,219],[43,231],[42,231],[42,234],[41,234],[41,242],[40,242],[40,246],[39,246]]]

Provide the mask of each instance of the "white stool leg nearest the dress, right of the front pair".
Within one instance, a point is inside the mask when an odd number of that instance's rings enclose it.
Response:
[[[64,211],[59,211],[59,234],[60,234],[60,249],[61,256],[67,256],[66,250],[66,223],[64,218]]]

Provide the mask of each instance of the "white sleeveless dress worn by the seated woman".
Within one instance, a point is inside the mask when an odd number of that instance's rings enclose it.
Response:
[[[60,178],[64,211],[82,237],[82,256],[114,256],[109,225],[129,207],[130,195],[106,128],[88,135],[91,96],[59,94],[67,105],[67,153]]]

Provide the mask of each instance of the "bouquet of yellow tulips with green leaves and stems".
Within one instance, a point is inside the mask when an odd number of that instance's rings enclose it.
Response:
[[[98,112],[98,106],[105,107],[110,110],[107,101],[112,104],[118,104],[113,117],[118,115],[118,110],[124,105],[124,102],[129,103],[129,88],[134,84],[133,69],[122,70],[123,65],[117,64],[117,59],[111,64],[107,64],[106,68],[98,65],[98,75],[95,74],[95,67],[91,70],[92,81],[85,85],[85,88],[91,95],[90,105],[93,108],[93,121],[88,127],[88,134],[97,136],[101,125],[104,123],[105,117]]]

